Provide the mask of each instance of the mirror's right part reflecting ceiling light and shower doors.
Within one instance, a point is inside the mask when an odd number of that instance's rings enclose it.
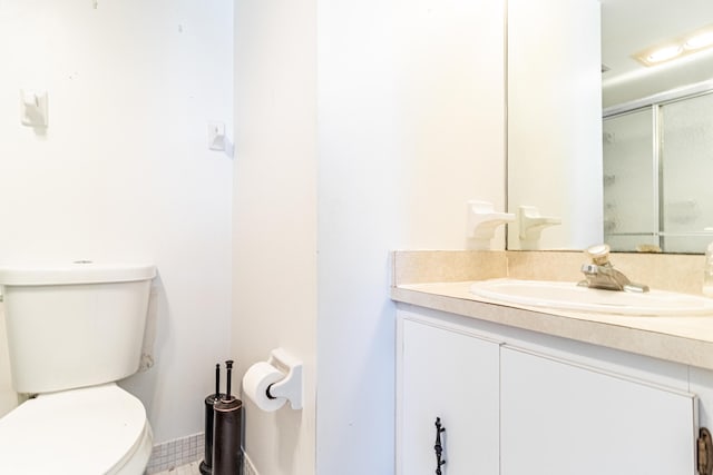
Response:
[[[602,0],[604,239],[702,254],[713,241],[713,2]],[[681,44],[684,44],[683,47]],[[680,56],[645,66],[654,48]]]

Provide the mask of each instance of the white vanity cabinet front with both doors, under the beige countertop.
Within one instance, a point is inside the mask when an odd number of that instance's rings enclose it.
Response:
[[[612,370],[605,348],[597,365],[590,346],[583,357],[570,340],[534,344],[472,318],[397,315],[398,474],[438,474],[437,417],[443,475],[697,473],[699,399],[685,378]]]

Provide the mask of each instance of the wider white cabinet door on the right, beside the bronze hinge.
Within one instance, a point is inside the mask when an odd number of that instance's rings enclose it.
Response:
[[[693,475],[695,396],[501,349],[501,475]]]

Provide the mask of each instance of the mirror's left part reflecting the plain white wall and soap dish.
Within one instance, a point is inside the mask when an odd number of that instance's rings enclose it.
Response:
[[[598,0],[508,0],[510,250],[603,240],[599,11]]]

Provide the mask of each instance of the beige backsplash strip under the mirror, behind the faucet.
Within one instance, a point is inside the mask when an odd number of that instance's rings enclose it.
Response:
[[[615,253],[612,264],[632,281],[661,290],[701,294],[703,256]],[[582,251],[398,250],[393,285],[484,280],[510,277],[579,281],[587,261]]]

